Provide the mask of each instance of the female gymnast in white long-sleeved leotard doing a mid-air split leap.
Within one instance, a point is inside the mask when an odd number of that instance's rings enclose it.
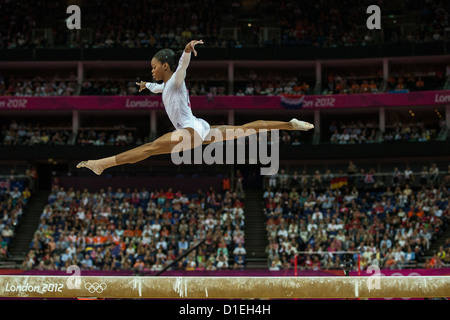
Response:
[[[156,81],[163,81],[162,84],[151,82],[137,82],[140,87],[139,92],[145,88],[153,93],[162,93],[162,100],[170,121],[175,127],[175,131],[184,129],[183,133],[189,134],[189,140],[186,139],[188,145],[183,146],[183,150],[196,148],[201,144],[209,144],[223,140],[237,139],[243,136],[254,134],[260,130],[302,130],[307,131],[314,126],[308,122],[292,119],[289,122],[282,121],[264,121],[258,120],[241,126],[212,126],[203,119],[197,118],[192,114],[191,104],[189,101],[189,92],[186,88],[185,77],[186,69],[189,66],[191,52],[197,56],[195,46],[203,44],[203,41],[193,40],[189,42],[181,54],[175,54],[171,49],[163,49],[156,53],[151,61],[152,75]],[[207,139],[212,129],[219,130],[221,135],[214,135],[214,140]],[[228,138],[227,130],[235,130],[235,132],[243,132],[240,136],[233,135]],[[238,129],[242,129],[236,131]],[[253,129],[253,130],[248,130]],[[88,168],[95,174],[100,175],[110,167],[123,164],[130,164],[142,161],[150,156],[160,154],[170,154],[176,145],[179,145],[179,139],[172,140],[172,133],[169,132],[159,137],[153,142],[146,143],[129,151],[120,153],[116,156],[107,157],[98,160],[81,161],[77,168]],[[222,136],[222,140],[216,140],[217,136]],[[184,135],[183,135],[184,137]],[[182,139],[185,140],[185,139]]]

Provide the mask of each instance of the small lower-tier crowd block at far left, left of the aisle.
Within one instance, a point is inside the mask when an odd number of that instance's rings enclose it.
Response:
[[[0,261],[5,260],[16,228],[31,197],[27,187],[14,185],[14,180],[0,181]]]

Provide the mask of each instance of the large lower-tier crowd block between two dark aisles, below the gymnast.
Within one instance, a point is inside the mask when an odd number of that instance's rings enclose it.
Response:
[[[89,192],[54,186],[23,267],[160,271],[242,269],[242,199],[212,187],[180,191],[112,188]]]

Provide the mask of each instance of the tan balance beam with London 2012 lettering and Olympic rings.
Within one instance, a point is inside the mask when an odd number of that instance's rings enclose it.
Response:
[[[450,297],[449,276],[92,277],[0,276],[0,297],[302,299]]]

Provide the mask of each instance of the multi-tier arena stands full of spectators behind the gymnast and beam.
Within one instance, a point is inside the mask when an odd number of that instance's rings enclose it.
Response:
[[[383,94],[428,92],[435,101],[448,102],[450,61],[442,53],[450,40],[449,3],[385,1],[382,30],[368,32],[367,15],[359,12],[370,1],[81,2],[83,29],[69,31],[65,1],[39,6],[0,1],[0,54],[5,57],[0,99],[28,103],[24,108],[0,104],[0,259],[20,261],[19,267],[28,270],[76,264],[89,270],[158,272],[205,240],[172,269],[249,269],[262,261],[265,269],[284,270],[293,268],[296,255],[303,269],[342,269],[347,257],[333,254],[340,250],[358,251],[364,269],[371,264],[384,269],[449,265],[447,104],[350,109],[344,103],[308,109],[300,103],[266,113],[234,108],[242,100],[220,100],[242,98],[259,106],[273,97],[363,95],[362,101],[376,102]],[[139,93],[136,81],[150,80],[152,54],[165,47],[177,50],[194,38],[205,41],[207,54],[199,49],[189,67],[189,95],[220,105],[218,110],[193,105],[196,114],[211,124],[264,116],[299,117],[316,125],[314,133],[280,132],[277,175],[261,177],[259,168],[238,165],[167,168],[168,158],[161,157],[114,168],[105,173],[109,181],[89,180],[90,173],[75,170],[80,158],[113,154],[172,130],[164,109],[82,105],[72,110],[63,102],[60,110],[27,110],[35,98],[92,98],[85,101],[93,104],[105,99],[102,103],[108,104],[151,95]],[[407,54],[395,55],[405,47],[401,52]],[[142,55],[135,58],[134,50]],[[383,55],[366,57],[371,51]],[[114,60],[120,52],[124,56]],[[29,61],[23,63],[22,57]],[[365,155],[369,149],[377,154]],[[342,165],[345,161],[348,165]],[[16,190],[10,170],[17,162],[28,174]],[[240,179],[237,168],[244,171]],[[231,186],[202,194],[194,184],[187,194],[175,191],[177,184],[153,191],[149,186],[108,187],[121,179],[165,175],[201,181],[211,172],[229,175],[224,185]],[[78,181],[61,187],[58,178]],[[80,188],[83,183],[89,190]],[[103,190],[91,186],[100,183]],[[27,206],[28,199],[37,194],[42,200],[46,192],[44,204]],[[36,212],[38,227],[26,252],[16,244],[11,254],[24,216]],[[356,268],[358,257],[351,259]]]

